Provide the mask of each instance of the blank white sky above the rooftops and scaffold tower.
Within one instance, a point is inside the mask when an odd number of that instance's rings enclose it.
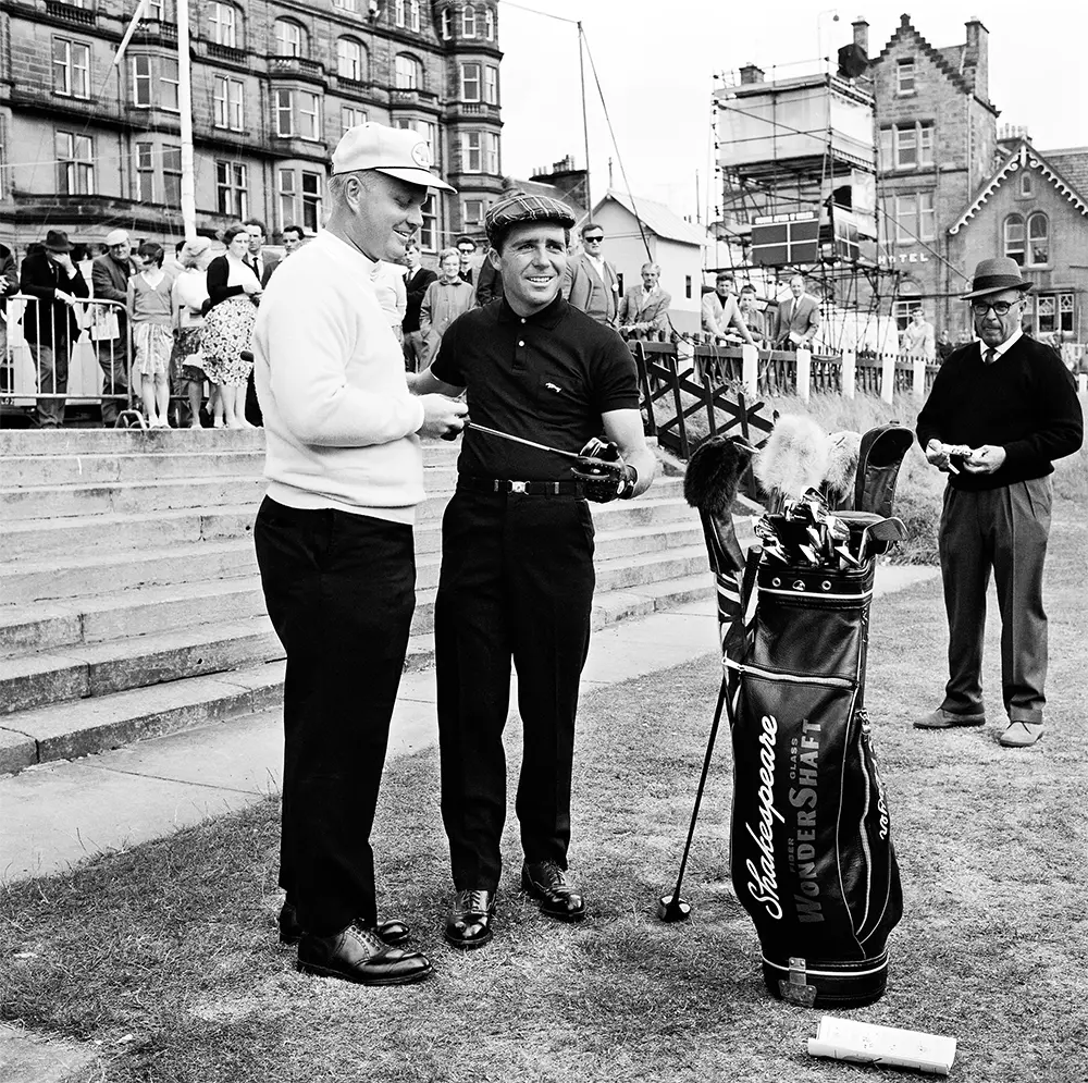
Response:
[[[989,30],[990,100],[1003,124],[1026,125],[1039,150],[1088,146],[1084,51],[1088,2],[1079,0],[898,0],[834,8],[829,0],[500,0],[503,171],[527,177],[537,167],[574,156],[584,161],[578,33],[526,9],[581,20],[615,130],[619,156],[585,64],[593,199],[608,184],[667,202],[681,214],[707,206],[713,179],[710,93],[714,73],[755,63],[771,77],[784,66],[833,57],[852,40],[851,23],[869,23],[876,56],[907,12],[937,48],[966,40],[964,23],[979,16]],[[826,9],[826,10],[825,10]],[[839,21],[833,21],[838,13]],[[696,172],[700,199],[696,201]],[[710,199],[710,206],[717,199]]]

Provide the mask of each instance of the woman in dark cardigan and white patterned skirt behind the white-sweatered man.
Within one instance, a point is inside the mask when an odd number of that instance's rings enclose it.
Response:
[[[249,350],[261,284],[246,262],[249,234],[240,223],[223,233],[226,251],[208,264],[208,304],[201,337],[205,373],[219,387],[223,419],[228,429],[251,429],[246,420]]]

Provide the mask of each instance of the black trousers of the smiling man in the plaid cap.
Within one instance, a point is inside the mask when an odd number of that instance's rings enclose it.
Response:
[[[527,861],[567,867],[578,684],[590,642],[593,522],[573,496],[457,492],[434,613],[442,819],[458,890],[495,890],[506,820],[510,661]]]

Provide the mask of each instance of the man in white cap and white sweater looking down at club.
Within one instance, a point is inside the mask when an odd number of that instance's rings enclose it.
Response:
[[[467,408],[409,394],[375,294],[422,225],[426,145],[380,124],[333,153],[325,230],[270,280],[254,333],[268,495],[254,531],[284,682],[280,938],[298,969],[364,985],[431,972],[379,923],[370,832],[416,604],[420,435]]]

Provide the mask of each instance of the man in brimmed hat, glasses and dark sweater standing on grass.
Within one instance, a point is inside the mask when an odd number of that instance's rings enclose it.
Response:
[[[1072,376],[1021,330],[1031,283],[1007,257],[984,259],[970,293],[978,342],[941,366],[918,415],[926,458],[949,475],[939,549],[949,620],[949,681],[919,729],[981,726],[986,589],[993,569],[1001,611],[1001,691],[1007,748],[1042,736],[1047,615],[1042,566],[1053,459],[1072,455],[1084,418]]]

